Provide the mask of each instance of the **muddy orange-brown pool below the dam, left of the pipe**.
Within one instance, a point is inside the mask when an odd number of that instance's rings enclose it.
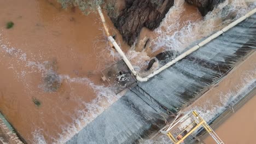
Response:
[[[201,19],[184,7],[195,15],[179,22]],[[14,27],[7,29],[9,21]],[[100,80],[101,70],[118,60],[102,28],[97,13],[63,10],[54,0],[0,0],[0,111],[26,142],[63,143],[118,99]]]

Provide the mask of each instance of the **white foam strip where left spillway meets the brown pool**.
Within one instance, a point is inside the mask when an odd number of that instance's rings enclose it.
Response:
[[[73,118],[73,123],[65,125],[62,128],[62,133],[59,134],[59,137],[53,138],[54,143],[65,143],[80,130],[82,130],[87,124],[93,121],[97,116],[99,116],[104,110],[106,110],[111,104],[117,101],[121,95],[116,95],[111,91],[110,88],[95,85],[87,78],[70,78],[67,75],[61,75],[62,79],[67,80],[68,82],[74,83],[84,83],[89,85],[94,89],[97,97],[90,101],[89,103],[83,103],[84,108],[77,110],[75,117]]]

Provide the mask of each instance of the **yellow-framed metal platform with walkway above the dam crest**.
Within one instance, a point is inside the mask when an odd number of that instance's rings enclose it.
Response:
[[[179,113],[171,124],[167,124],[160,130],[160,133],[167,135],[174,144],[179,144],[201,127],[205,128],[216,143],[224,144],[196,110]]]

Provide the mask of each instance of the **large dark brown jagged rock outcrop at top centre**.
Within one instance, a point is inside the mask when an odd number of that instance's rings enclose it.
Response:
[[[125,7],[110,18],[123,39],[132,45],[143,27],[157,28],[174,0],[125,0]]]

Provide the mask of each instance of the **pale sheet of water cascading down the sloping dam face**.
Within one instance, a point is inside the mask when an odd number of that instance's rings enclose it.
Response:
[[[192,103],[228,73],[241,58],[255,51],[256,14],[191,53],[145,83],[138,83],[172,112]],[[132,91],[137,91],[135,88]],[[132,91],[94,119],[67,143],[136,143],[165,125],[167,113]],[[141,96],[143,97],[143,96]]]

